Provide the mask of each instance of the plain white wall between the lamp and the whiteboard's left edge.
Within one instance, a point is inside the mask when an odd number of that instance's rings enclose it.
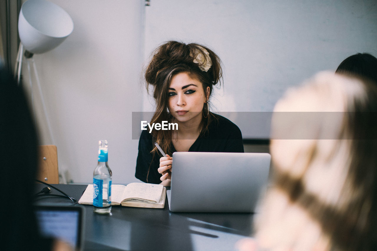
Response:
[[[50,2],[68,12],[74,31],[52,51],[34,55],[55,138],[49,136],[35,89],[42,144],[57,145],[61,173],[90,183],[98,140],[107,139],[113,183],[137,181],[138,141],[132,140],[131,115],[142,104],[144,2]]]

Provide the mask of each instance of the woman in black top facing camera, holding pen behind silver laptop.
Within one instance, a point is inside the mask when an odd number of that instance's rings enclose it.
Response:
[[[244,152],[239,128],[209,110],[212,88],[222,78],[220,59],[213,51],[195,43],[169,41],[153,53],[145,78],[156,101],[150,124],[177,123],[178,130],[143,130],[136,178],[169,186],[171,156],[177,151]],[[155,142],[167,157],[161,157]]]

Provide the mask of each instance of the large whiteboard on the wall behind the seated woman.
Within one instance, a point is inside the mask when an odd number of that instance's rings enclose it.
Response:
[[[276,101],[320,70],[357,52],[377,55],[375,0],[151,0],[144,62],[168,40],[205,44],[222,60],[224,83],[211,111],[229,112],[245,139],[267,139]],[[144,93],[143,110],[154,101]],[[265,115],[261,113],[266,112]],[[262,119],[263,120],[263,119]]]

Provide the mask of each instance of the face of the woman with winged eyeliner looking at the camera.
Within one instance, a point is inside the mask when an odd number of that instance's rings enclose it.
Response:
[[[173,76],[169,86],[168,109],[179,122],[187,122],[193,118],[201,119],[202,109],[207,100],[203,85],[189,74],[181,72]]]

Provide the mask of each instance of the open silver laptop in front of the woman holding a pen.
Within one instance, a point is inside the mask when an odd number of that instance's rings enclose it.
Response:
[[[255,213],[267,187],[268,153],[173,153],[172,212]]]

